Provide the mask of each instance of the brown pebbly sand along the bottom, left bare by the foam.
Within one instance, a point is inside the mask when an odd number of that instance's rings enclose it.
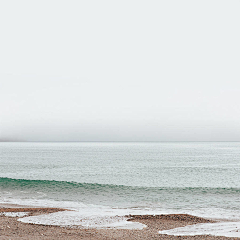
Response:
[[[57,211],[65,211],[61,208],[0,208],[0,212],[29,212],[29,215],[46,214]],[[140,240],[140,239],[207,239],[207,240],[229,240],[240,238],[227,238],[215,236],[168,236],[160,235],[158,231],[189,224],[213,222],[187,214],[170,215],[129,215],[129,221],[141,222],[147,227],[143,230],[124,229],[83,229],[58,227],[47,225],[35,225],[19,222],[18,217],[6,217],[0,215],[0,240],[2,239],[96,239],[96,240]]]

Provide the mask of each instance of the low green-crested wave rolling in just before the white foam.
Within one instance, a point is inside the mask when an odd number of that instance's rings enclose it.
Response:
[[[34,199],[123,208],[239,209],[240,188],[137,187],[0,177],[0,201]],[[17,201],[18,202],[18,201]]]

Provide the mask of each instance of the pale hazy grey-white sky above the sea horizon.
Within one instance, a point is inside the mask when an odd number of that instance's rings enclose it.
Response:
[[[0,139],[240,141],[239,0],[0,0]]]

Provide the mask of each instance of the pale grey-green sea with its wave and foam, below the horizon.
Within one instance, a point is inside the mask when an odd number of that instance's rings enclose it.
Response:
[[[188,213],[239,226],[240,143],[0,143],[0,202],[75,210],[32,223],[142,228],[124,215]]]

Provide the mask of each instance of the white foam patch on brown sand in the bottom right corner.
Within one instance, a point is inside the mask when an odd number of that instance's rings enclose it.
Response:
[[[240,222],[201,223],[159,231],[159,233],[174,236],[213,235],[240,237]]]

